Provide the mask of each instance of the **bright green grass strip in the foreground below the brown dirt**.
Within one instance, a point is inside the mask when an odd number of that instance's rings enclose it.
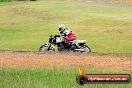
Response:
[[[87,74],[126,73],[86,69]],[[130,73],[130,72],[127,72]],[[76,83],[77,68],[1,68],[0,88],[80,88]],[[132,74],[132,73],[130,73]],[[130,84],[86,84],[83,88],[131,88]]]

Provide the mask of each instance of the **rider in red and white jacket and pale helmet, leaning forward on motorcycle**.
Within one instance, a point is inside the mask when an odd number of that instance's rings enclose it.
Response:
[[[66,28],[64,24],[59,25],[60,35],[63,36],[62,43],[70,45],[70,49],[73,49],[74,46],[70,41],[76,40],[76,36],[74,35],[73,31]]]

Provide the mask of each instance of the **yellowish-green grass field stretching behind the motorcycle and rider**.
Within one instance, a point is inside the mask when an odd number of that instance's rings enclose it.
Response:
[[[93,52],[132,53],[132,9],[63,0],[0,3],[0,49],[38,50],[61,23]]]

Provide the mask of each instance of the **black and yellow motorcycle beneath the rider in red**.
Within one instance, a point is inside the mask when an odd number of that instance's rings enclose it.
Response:
[[[39,51],[91,52],[90,47],[86,45],[86,40],[73,40],[67,41],[67,43],[60,43],[60,39],[60,35],[50,36],[49,43],[41,45]]]

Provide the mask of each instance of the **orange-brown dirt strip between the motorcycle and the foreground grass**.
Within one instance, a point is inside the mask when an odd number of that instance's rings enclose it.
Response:
[[[42,67],[86,65],[99,69],[132,70],[132,56],[78,53],[0,52],[0,65]]]

